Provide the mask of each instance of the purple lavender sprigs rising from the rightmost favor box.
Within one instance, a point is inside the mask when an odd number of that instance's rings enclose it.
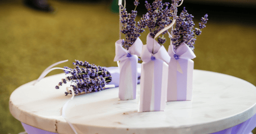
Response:
[[[196,36],[201,35],[201,30],[205,28],[205,24],[208,20],[208,15],[206,14],[202,17],[202,22],[199,23],[199,28],[194,28],[194,22],[191,14],[187,12],[187,10],[183,9],[180,13],[180,16],[177,16],[176,26],[172,31],[172,42],[176,49],[180,46],[183,42],[186,43],[192,50],[194,50],[194,44],[196,41]]]

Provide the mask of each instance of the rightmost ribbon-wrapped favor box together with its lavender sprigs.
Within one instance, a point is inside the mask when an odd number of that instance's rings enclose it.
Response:
[[[177,5],[176,5],[177,6]],[[177,10],[177,9],[175,9]],[[190,101],[192,99],[193,53],[196,36],[201,35],[208,21],[208,15],[202,17],[199,28],[194,27],[193,16],[183,9],[175,16],[176,25],[168,32],[171,39],[168,54],[167,101]]]

